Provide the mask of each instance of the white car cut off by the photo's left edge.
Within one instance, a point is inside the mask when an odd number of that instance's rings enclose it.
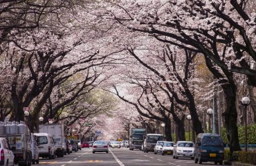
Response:
[[[10,145],[6,138],[0,138],[0,165],[14,165],[15,164],[15,155],[10,149]]]

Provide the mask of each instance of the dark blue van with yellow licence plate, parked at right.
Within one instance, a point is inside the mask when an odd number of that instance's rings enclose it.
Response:
[[[215,165],[223,164],[224,147],[221,136],[217,133],[199,133],[194,147],[194,163],[213,161]]]

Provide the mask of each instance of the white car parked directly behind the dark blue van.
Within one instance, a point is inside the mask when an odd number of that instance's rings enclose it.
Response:
[[[192,141],[178,141],[174,145],[173,158],[179,157],[191,158],[194,160],[194,142]]]

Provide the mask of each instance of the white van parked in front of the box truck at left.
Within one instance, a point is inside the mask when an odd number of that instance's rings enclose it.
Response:
[[[39,142],[39,157],[42,158],[55,158],[56,156],[56,148],[54,144],[53,136],[49,133],[34,133],[37,136],[37,140]]]

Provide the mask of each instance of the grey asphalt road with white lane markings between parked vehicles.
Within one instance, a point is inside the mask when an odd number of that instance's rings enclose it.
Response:
[[[120,149],[109,149],[109,154],[103,152],[92,153],[90,148],[83,148],[81,151],[67,154],[64,158],[55,158],[48,160],[40,158],[39,165],[60,165],[60,166],[188,166],[197,165],[194,160],[188,158],[174,159],[172,155],[162,156],[153,152],[144,153],[143,151],[130,151],[129,148],[122,147]],[[214,165],[212,162],[203,163],[202,165]]]

